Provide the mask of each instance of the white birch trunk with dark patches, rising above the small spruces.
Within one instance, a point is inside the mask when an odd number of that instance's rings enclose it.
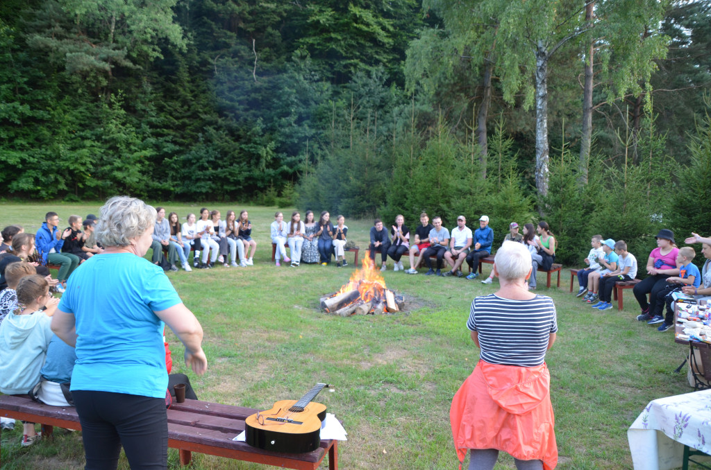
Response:
[[[548,50],[538,41],[535,54],[535,187],[548,194]]]

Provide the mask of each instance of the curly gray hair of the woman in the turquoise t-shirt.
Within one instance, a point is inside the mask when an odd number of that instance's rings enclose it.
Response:
[[[103,246],[129,246],[156,223],[156,209],[136,197],[114,196],[100,209],[96,239]]]

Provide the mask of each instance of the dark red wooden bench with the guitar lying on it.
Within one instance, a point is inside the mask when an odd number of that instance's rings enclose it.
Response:
[[[319,449],[304,454],[269,452],[233,441],[245,430],[245,418],[255,412],[252,408],[200,400],[173,403],[168,410],[168,447],[178,449],[182,465],[190,464],[192,452],[200,452],[287,469],[315,470],[328,454],[328,468],[338,469],[335,440],[322,440]],[[24,396],[0,396],[0,416],[41,423],[43,439],[52,436],[53,426],[81,430],[75,408],[44,405]]]

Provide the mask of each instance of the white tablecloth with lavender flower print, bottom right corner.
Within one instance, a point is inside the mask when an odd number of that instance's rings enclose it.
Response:
[[[627,439],[635,470],[680,467],[684,444],[711,454],[711,390],[652,400]]]

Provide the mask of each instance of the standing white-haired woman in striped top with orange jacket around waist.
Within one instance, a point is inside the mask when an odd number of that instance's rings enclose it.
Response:
[[[449,412],[457,456],[471,449],[469,470],[493,469],[503,450],[519,470],[550,470],[558,454],[545,353],[558,331],[555,305],[528,291],[522,244],[505,241],[494,269],[501,288],[476,297],[466,323],[481,354]]]

